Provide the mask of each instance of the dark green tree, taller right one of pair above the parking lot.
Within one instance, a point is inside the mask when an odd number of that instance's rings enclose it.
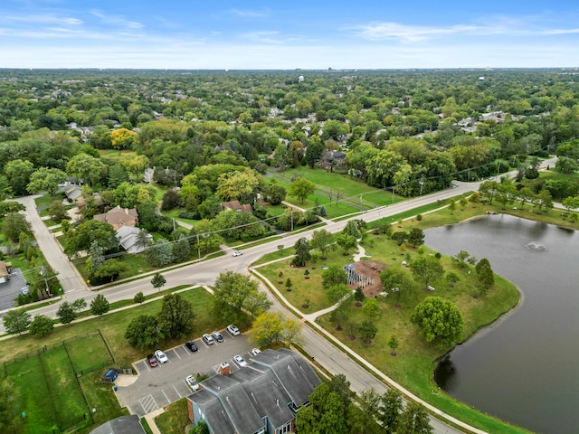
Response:
[[[158,325],[161,334],[166,338],[177,339],[194,331],[195,313],[189,301],[179,294],[168,294],[163,297],[163,306],[159,313]]]

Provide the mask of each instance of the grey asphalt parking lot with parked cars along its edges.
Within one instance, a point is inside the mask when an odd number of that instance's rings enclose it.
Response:
[[[195,344],[199,348],[192,353],[185,344],[163,351],[168,357],[167,363],[159,363],[155,368],[149,367],[147,360],[134,363],[138,371],[138,380],[125,387],[119,386],[117,397],[122,406],[127,406],[131,414],[139,417],[165,407],[171,402],[190,395],[185,383],[187,375],[207,373],[209,376],[218,372],[223,362],[229,362],[232,371],[239,369],[233,362],[233,355],[241,354],[249,362],[252,347],[245,335],[230,335],[222,331],[224,342],[207,345],[199,338]]]

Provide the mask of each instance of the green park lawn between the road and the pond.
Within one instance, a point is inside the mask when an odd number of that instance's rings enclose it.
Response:
[[[440,203],[433,204],[430,209],[440,206]],[[423,214],[421,222],[412,219],[403,222],[400,228],[396,225],[394,231],[409,231],[413,226],[425,228],[460,222],[467,218],[484,214],[487,209],[488,205],[469,203],[464,210],[460,210],[458,205],[457,210],[454,212],[443,209],[440,212]],[[418,212],[425,211],[419,210]],[[417,211],[414,210],[410,215],[416,213]],[[394,219],[394,221],[396,220],[397,218]],[[392,219],[389,219],[389,221],[392,221]],[[369,226],[372,226],[372,224]],[[406,269],[401,263],[406,259],[407,254],[410,254],[411,258],[417,258],[419,253],[416,249],[406,247],[401,250],[394,241],[390,241],[383,234],[367,235],[363,241],[363,246],[366,253],[373,260],[380,261],[389,268],[402,268],[412,278],[410,269]],[[284,253],[292,254],[293,249],[287,249]],[[331,260],[339,262],[339,256],[333,258],[333,255],[340,254],[339,250],[328,254],[326,262],[328,264],[331,263]],[[433,252],[425,249],[423,254],[433,254]],[[271,253],[263,260],[277,258],[280,258],[279,252]],[[270,278],[271,282],[279,288],[280,292],[295,307],[301,310],[304,297],[309,297],[310,304],[314,307],[312,310],[317,310],[319,307],[327,306],[325,297],[323,297],[323,289],[321,289],[321,278],[318,275],[318,273],[321,273],[322,263],[321,260],[318,260],[315,264],[317,269],[310,269],[309,280],[305,280],[303,277],[304,269],[289,268],[289,259],[265,266],[260,271]],[[460,280],[454,288],[450,288],[449,284],[441,279],[431,283],[436,288],[435,293],[432,294],[424,291],[421,283],[414,282],[413,288],[405,294],[401,294],[400,299],[392,295],[378,297],[382,315],[376,321],[378,332],[371,344],[363,343],[357,335],[356,325],[360,324],[365,317],[362,309],[356,307],[354,303],[348,308],[348,319],[345,321],[342,330],[336,330],[335,325],[330,324],[328,316],[320,318],[320,325],[323,325],[337,339],[350,346],[356,353],[361,354],[366,360],[393,378],[394,381],[401,383],[425,401],[431,402],[436,407],[458,419],[464,420],[480,429],[485,429],[488,432],[528,432],[526,429],[513,427],[471,409],[469,405],[456,401],[439,390],[438,386],[432,382],[432,371],[435,361],[451,348],[436,349],[431,344],[427,344],[417,334],[414,325],[410,322],[413,307],[417,303],[424,297],[431,295],[450,299],[460,309],[465,320],[462,337],[466,339],[474,334],[479,327],[488,325],[511,307],[516,306],[519,297],[517,288],[499,277],[496,277],[494,288],[489,289],[485,295],[480,295],[476,287],[476,273],[472,267],[460,268],[458,264],[448,257],[442,257],[441,263],[447,272],[453,271],[459,275]],[[308,264],[308,266],[311,266],[311,264]],[[470,274],[469,270],[471,270]],[[283,273],[283,278],[278,278],[280,271]],[[291,292],[287,292],[284,288],[287,278],[291,278],[293,282]],[[283,283],[279,284],[279,281]],[[473,297],[474,295],[477,295],[477,297]],[[387,342],[393,334],[400,341],[400,346],[396,350],[398,354],[396,357],[389,354],[387,347]],[[352,335],[355,337],[352,338]]]

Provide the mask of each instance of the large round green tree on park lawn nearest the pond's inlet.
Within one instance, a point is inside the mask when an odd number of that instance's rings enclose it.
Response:
[[[460,339],[464,320],[459,309],[441,297],[426,297],[416,305],[410,318],[419,334],[437,348],[449,346]]]

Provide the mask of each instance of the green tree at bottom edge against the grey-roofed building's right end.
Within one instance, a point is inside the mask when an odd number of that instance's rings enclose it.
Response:
[[[346,434],[344,403],[327,383],[316,387],[309,395],[308,407],[299,410],[296,430],[300,434]]]

